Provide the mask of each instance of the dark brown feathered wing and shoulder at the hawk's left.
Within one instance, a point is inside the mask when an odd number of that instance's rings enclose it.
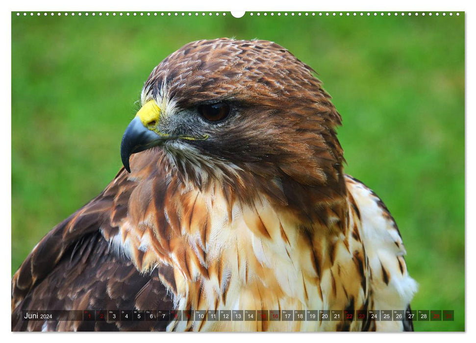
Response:
[[[124,170],[124,169],[123,169]],[[36,245],[12,280],[12,331],[164,331],[166,321],[23,321],[23,310],[169,310],[161,274],[141,273],[107,238],[119,233],[134,183],[119,172]],[[110,243],[111,242],[111,243]],[[160,269],[160,270],[158,270]]]

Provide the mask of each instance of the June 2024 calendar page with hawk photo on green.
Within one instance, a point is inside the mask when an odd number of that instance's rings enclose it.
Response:
[[[12,331],[464,331],[465,12],[11,12]]]

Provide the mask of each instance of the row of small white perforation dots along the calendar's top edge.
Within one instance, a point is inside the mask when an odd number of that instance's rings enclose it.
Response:
[[[452,15],[459,16],[459,12],[250,12],[248,13],[249,16],[333,16],[333,17],[350,17],[350,16],[452,16]],[[150,16],[168,16],[168,17],[199,17],[199,16],[226,16],[225,12],[17,12],[17,16],[141,16],[141,17],[150,17]]]

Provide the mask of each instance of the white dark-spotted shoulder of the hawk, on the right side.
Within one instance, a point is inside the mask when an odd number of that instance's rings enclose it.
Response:
[[[376,310],[406,310],[418,285],[409,274],[400,231],[383,201],[366,185],[346,175],[351,201],[361,221],[361,237],[369,260],[370,294]],[[369,309],[370,310],[370,309]],[[376,321],[376,330],[413,331],[412,321]]]

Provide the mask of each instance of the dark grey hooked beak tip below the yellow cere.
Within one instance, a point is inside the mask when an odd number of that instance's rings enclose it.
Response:
[[[130,155],[159,145],[163,139],[146,128],[140,118],[136,117],[127,125],[121,141],[121,160],[124,168],[130,173]]]

